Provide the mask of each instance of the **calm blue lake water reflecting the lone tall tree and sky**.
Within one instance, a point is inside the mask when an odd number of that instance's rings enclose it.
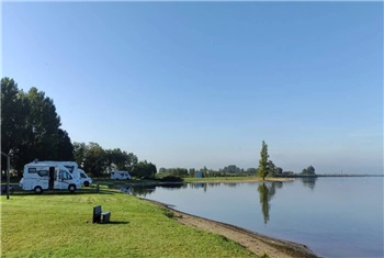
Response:
[[[131,190],[182,212],[305,244],[324,257],[384,257],[380,177]]]

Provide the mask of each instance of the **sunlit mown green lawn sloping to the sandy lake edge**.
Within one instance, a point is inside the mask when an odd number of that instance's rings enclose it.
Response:
[[[92,224],[92,209],[112,212]],[[169,211],[108,188],[1,197],[1,257],[255,257]]]

